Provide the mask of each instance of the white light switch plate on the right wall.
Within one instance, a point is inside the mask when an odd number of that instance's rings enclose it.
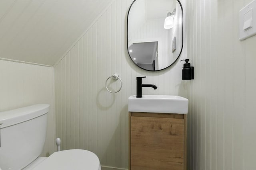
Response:
[[[253,0],[239,13],[239,39],[245,40],[256,35],[256,2]]]

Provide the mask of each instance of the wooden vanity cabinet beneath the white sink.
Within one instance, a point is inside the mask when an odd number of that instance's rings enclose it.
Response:
[[[186,114],[129,112],[129,170],[186,170]]]

